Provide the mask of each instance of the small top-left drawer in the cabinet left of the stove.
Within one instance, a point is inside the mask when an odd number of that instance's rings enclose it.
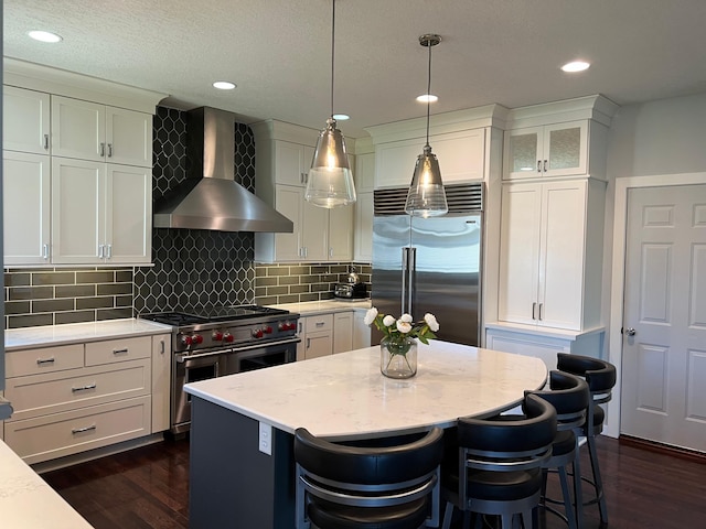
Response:
[[[83,365],[83,344],[10,350],[4,355],[7,378],[75,369]]]

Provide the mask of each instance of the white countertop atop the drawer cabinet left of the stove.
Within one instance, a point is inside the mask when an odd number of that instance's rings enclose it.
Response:
[[[4,348],[6,350],[14,350],[127,336],[147,336],[171,333],[171,328],[169,325],[135,317],[41,327],[8,328],[4,331]]]

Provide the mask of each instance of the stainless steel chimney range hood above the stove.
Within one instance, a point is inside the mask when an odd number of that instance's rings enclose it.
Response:
[[[235,182],[235,115],[208,107],[188,114],[193,174],[154,204],[154,227],[291,234],[291,220]]]

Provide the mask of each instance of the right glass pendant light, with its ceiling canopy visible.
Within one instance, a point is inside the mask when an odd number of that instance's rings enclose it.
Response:
[[[446,215],[449,206],[439,171],[439,161],[429,145],[429,106],[431,104],[431,46],[441,42],[439,35],[426,34],[419,37],[419,44],[429,48],[429,76],[427,80],[427,144],[417,156],[411,184],[407,192],[405,212],[415,217],[438,217]]]

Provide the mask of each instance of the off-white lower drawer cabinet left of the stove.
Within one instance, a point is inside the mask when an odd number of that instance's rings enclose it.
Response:
[[[8,352],[6,443],[33,464],[167,430],[170,339]]]

